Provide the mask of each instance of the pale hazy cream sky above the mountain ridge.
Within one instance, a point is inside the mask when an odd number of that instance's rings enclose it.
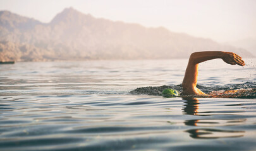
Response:
[[[256,0],[0,0],[0,10],[44,23],[69,7],[97,18],[164,26],[217,42],[256,38]]]

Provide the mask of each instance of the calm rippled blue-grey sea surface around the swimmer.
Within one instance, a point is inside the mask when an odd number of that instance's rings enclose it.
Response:
[[[0,65],[0,150],[256,150],[256,98],[164,98],[137,87],[179,85],[188,60]],[[198,84],[256,85],[247,65],[210,60]]]

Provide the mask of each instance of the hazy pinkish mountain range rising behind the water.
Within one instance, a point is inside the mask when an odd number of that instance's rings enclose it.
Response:
[[[205,50],[252,56],[241,48],[166,28],[94,18],[66,8],[50,23],[0,11],[0,60],[177,59]]]

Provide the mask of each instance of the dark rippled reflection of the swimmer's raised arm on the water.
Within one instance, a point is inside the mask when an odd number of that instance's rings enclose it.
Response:
[[[200,108],[200,103],[198,98],[183,98],[185,99],[185,107],[183,108],[184,114],[186,115],[196,115],[203,116],[198,113],[198,109]],[[209,111],[210,113],[210,111]],[[196,126],[198,128],[192,128],[190,130],[186,130],[186,132],[190,133],[190,137],[192,138],[227,138],[227,137],[243,137],[243,133],[245,131],[239,130],[223,130],[217,129],[217,126],[226,126],[226,123],[229,125],[237,125],[238,123],[245,122],[246,119],[239,119],[238,121],[232,120],[219,120],[219,119],[200,119],[200,120],[186,120],[184,123],[188,126]],[[216,128],[205,128],[212,127]]]

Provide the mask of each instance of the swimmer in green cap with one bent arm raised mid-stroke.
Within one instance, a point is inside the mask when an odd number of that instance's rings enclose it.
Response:
[[[148,94],[148,95],[162,95],[164,97],[175,96],[200,96],[203,98],[237,98],[243,97],[256,92],[256,89],[250,90],[231,90],[225,92],[212,91],[209,95],[202,92],[197,88],[197,76],[198,76],[198,64],[212,59],[222,59],[227,64],[244,66],[245,62],[239,55],[233,52],[194,52],[190,55],[188,65],[186,67],[185,76],[182,82],[183,91],[180,93],[173,89],[172,86],[160,86],[160,87],[138,87],[131,91],[131,94]],[[247,93],[245,93],[247,92]],[[247,96],[248,97],[248,96]]]

